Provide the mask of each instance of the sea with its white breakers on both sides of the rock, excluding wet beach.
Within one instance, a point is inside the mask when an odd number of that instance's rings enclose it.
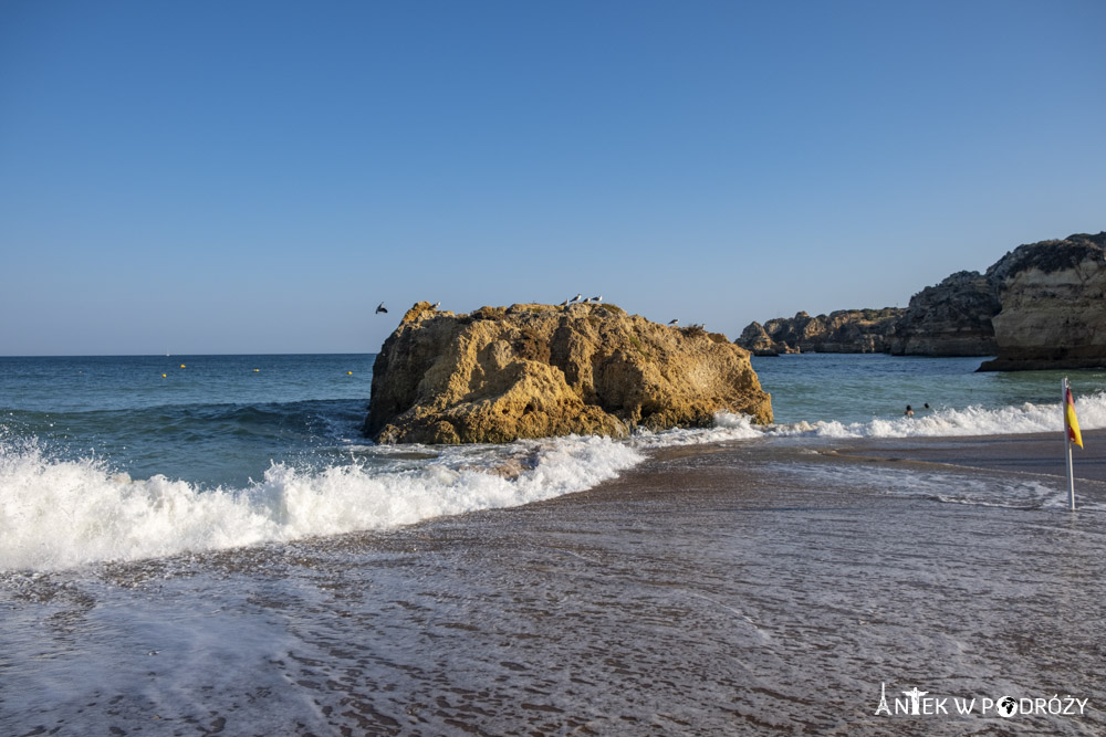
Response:
[[[754,358],[769,428],[723,414],[622,442],[377,446],[361,433],[374,358],[0,358],[0,569],[390,529],[582,491],[655,448],[1061,427],[1060,372],[810,355]],[[1106,373],[1073,372],[1072,386],[1082,425],[1106,427]]]

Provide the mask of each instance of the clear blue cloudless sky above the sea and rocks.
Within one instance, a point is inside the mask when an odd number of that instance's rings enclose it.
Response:
[[[1106,3],[0,3],[0,354],[731,338],[1106,229]],[[385,301],[392,312],[374,315]]]

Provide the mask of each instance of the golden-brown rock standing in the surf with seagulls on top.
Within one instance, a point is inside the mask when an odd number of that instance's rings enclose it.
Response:
[[[721,410],[772,421],[749,354],[723,335],[615,305],[455,315],[420,302],[376,357],[365,432],[383,443],[623,436],[709,425]]]

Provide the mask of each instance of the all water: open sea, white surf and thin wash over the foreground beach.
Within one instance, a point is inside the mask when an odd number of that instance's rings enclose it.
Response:
[[[376,446],[373,359],[0,358],[0,733],[1004,727],[874,719],[885,684],[1073,694],[1099,716],[1022,726],[1106,728],[1106,505],[820,454],[1058,434],[1062,375],[758,358],[771,427]],[[1071,378],[1106,427],[1106,375]]]

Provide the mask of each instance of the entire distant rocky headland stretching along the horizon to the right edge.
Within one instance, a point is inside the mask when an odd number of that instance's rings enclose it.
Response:
[[[1106,232],[1020,245],[985,273],[959,272],[906,309],[801,312],[752,323],[754,354],[995,356],[981,370],[1106,366]]]

